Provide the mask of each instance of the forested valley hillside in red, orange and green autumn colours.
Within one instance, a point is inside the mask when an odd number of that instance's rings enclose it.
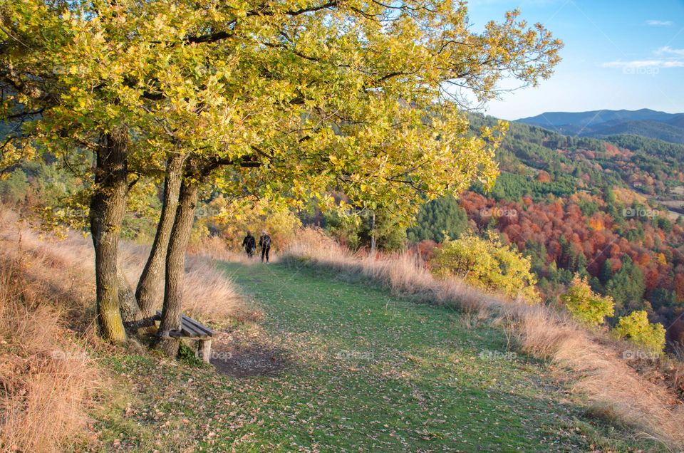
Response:
[[[494,123],[470,120],[474,128]],[[532,259],[546,301],[556,301],[579,273],[616,300],[616,317],[646,310],[668,328],[670,341],[681,341],[683,157],[683,145],[636,135],[596,140],[512,123],[492,191],[472,187],[457,202],[461,211],[448,200],[428,204],[409,236],[442,241],[430,225],[465,217],[449,235],[501,234]]]

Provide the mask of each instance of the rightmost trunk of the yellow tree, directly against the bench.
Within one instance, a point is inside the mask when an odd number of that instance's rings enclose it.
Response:
[[[198,182],[191,182],[188,179],[182,183],[166,254],[164,306],[162,322],[157,333],[159,337],[157,347],[170,357],[175,357],[178,353],[179,340],[172,338],[169,334],[173,330],[180,330],[181,327],[185,249],[192,232],[192,222],[195,220],[198,194]]]

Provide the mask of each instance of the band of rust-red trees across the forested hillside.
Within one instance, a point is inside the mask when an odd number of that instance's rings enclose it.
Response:
[[[611,146],[607,146],[609,151],[621,152]],[[684,266],[684,256],[670,245],[684,242],[684,229],[675,225],[668,233],[652,224],[642,223],[643,239],[630,242],[613,231],[614,222],[609,214],[596,212],[585,217],[578,201],[579,197],[570,197],[553,203],[534,203],[529,197],[524,197],[521,203],[495,202],[480,194],[466,192],[460,204],[477,229],[485,229],[494,217],[504,241],[516,244],[520,250],[528,241],[544,244],[546,264],[562,262],[562,236],[571,249],[584,253],[591,276],[601,274],[607,259],[611,261],[613,272],[617,272],[622,266],[621,259],[628,255],[643,270],[648,291],[670,288],[679,300],[684,301],[684,272],[676,271],[681,269],[677,266]],[[636,227],[638,220],[630,222]]]

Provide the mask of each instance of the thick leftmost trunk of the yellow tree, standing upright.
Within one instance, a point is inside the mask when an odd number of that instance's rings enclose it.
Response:
[[[128,192],[128,131],[109,132],[96,152],[90,233],[95,248],[98,326],[106,340],[126,339],[119,304],[118,245]]]

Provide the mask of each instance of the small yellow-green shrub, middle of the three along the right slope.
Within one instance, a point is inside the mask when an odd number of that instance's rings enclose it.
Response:
[[[611,296],[601,296],[591,291],[586,276],[580,278],[575,274],[568,291],[561,296],[561,301],[573,318],[585,326],[596,327],[603,324],[606,316],[613,316],[615,302]]]

